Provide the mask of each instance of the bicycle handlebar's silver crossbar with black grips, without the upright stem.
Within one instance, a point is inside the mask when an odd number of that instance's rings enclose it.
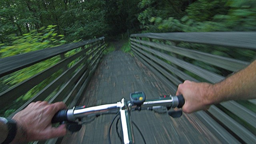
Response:
[[[182,108],[185,100],[182,95],[180,96],[170,96],[169,98],[164,99],[149,99],[146,100],[141,108],[152,107],[152,106],[171,106],[172,108],[178,107]],[[118,108],[120,108],[121,102],[117,102],[116,104],[105,104],[100,106],[93,106],[89,108],[85,108],[85,106],[74,107],[69,110],[60,110],[58,111],[54,117],[52,118],[52,123],[69,121],[74,122],[77,118],[82,117],[90,117],[90,116],[98,116],[100,114],[107,114],[118,112]],[[132,108],[136,108],[137,106],[132,106]]]

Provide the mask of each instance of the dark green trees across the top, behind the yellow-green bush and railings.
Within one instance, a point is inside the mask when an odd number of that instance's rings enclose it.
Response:
[[[71,42],[146,32],[253,31],[254,0],[0,0],[0,43],[43,26]]]

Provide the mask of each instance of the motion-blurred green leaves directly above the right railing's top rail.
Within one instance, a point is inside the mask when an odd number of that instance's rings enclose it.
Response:
[[[198,0],[186,9],[187,15],[152,16],[146,26],[150,32],[255,31],[256,1]],[[150,16],[151,13],[148,13]],[[143,15],[142,15],[143,16]],[[140,18],[140,17],[139,17]],[[141,22],[142,25],[145,22]]]

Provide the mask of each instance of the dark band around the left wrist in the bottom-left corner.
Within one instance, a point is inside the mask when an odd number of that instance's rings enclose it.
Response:
[[[16,133],[17,133],[17,124],[14,120],[10,118],[6,118],[7,120],[7,127],[8,127],[8,135],[7,138],[2,142],[2,144],[9,144],[12,142],[12,140],[15,138]]]

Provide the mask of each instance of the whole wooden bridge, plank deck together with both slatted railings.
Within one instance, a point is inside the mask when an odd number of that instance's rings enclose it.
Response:
[[[0,59],[0,76],[6,78],[34,64],[60,57],[53,66],[0,93],[0,108],[12,107],[16,99],[46,79],[51,81],[28,101],[20,104],[9,117],[37,100],[64,101],[69,108],[84,104],[96,106],[115,103],[122,97],[128,98],[130,92],[141,90],[147,98],[174,95],[178,84],[184,80],[216,83],[224,79],[225,75],[192,64],[191,59],[224,69],[224,72],[236,72],[250,61],[210,54],[204,48],[218,46],[254,52],[256,32],[133,34],[130,43],[135,57],[122,52],[120,48],[103,56],[106,45],[102,37]],[[188,44],[196,45],[198,50],[186,47]],[[67,54],[74,50],[75,54]],[[54,75],[56,72],[60,74]],[[254,144],[255,106],[256,100],[229,101],[211,106],[207,112],[183,114],[181,118],[143,111],[133,112],[132,119],[148,144]],[[106,144],[112,118],[113,115],[100,116],[77,133],[34,143]],[[136,144],[143,144],[138,131],[134,130],[134,133]],[[114,144],[120,143],[115,128],[112,129],[111,139]]]

